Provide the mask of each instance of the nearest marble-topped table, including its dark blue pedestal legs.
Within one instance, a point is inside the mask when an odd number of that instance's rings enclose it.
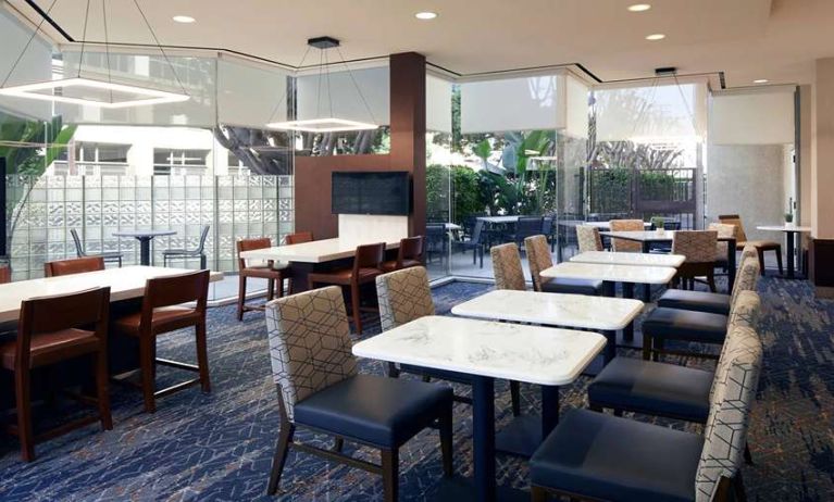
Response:
[[[595,332],[427,316],[360,341],[353,354],[468,375],[474,500],[491,502],[508,498],[499,497],[495,478],[495,379],[542,386],[542,437],[547,437],[559,422],[559,386],[573,382],[605,344]]]

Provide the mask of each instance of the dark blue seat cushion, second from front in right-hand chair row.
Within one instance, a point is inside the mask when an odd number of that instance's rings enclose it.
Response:
[[[676,364],[614,357],[588,386],[592,406],[706,423],[714,375]]]

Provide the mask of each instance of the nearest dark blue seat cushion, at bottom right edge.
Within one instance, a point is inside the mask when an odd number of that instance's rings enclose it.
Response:
[[[567,413],[530,461],[534,486],[595,500],[695,500],[704,438],[588,410]]]

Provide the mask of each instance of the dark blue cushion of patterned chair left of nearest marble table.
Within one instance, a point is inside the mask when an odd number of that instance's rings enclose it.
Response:
[[[397,448],[451,406],[450,387],[356,375],[296,403],[295,423],[381,448]]]

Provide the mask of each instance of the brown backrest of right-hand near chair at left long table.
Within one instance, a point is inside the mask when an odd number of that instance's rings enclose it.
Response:
[[[150,326],[153,310],[195,302],[195,311],[206,315],[209,298],[209,271],[188,272],[148,279],[145,283],[141,323]]]

